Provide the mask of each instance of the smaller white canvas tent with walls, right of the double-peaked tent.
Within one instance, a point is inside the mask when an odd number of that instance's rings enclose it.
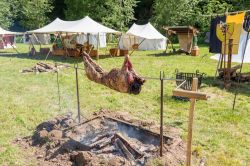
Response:
[[[166,37],[159,33],[150,23],[145,25],[133,24],[123,35],[119,47],[131,50],[134,44],[140,44],[139,50],[165,50]]]

